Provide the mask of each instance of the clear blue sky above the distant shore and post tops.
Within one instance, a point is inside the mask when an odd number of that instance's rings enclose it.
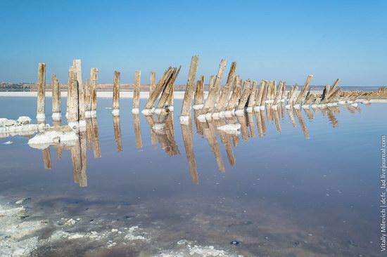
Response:
[[[148,84],[192,55],[198,75],[216,74],[222,58],[237,62],[243,79],[312,85],[387,86],[387,1],[56,1],[0,0],[0,81],[67,82],[72,59],[83,79],[99,68],[99,83]],[[225,79],[223,80],[225,81]]]

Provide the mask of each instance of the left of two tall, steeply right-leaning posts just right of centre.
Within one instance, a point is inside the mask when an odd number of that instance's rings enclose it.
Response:
[[[205,118],[205,114],[212,114],[214,107],[215,107],[215,101],[216,98],[219,97],[219,92],[220,92],[220,83],[222,81],[224,69],[226,68],[227,65],[227,60],[222,60],[219,65],[219,70],[217,72],[214,86],[210,88],[210,91],[208,92],[208,97],[207,100],[205,100],[205,103],[203,105],[203,108],[201,110],[201,114],[199,115],[198,119],[203,119]],[[210,116],[207,117],[210,119]]]

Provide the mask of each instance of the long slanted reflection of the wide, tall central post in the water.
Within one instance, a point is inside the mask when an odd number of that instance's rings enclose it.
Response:
[[[194,152],[194,144],[193,144],[193,132],[192,132],[192,121],[189,119],[189,124],[181,124],[182,127],[182,135],[184,141],[184,147],[186,150],[186,159],[188,161],[189,166],[189,174],[191,175],[192,183],[199,183],[198,171],[196,170],[196,158]]]

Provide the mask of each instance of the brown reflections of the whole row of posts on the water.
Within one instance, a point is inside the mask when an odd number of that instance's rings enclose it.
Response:
[[[356,111],[360,112],[360,108],[356,106],[343,105],[345,110],[348,110],[350,113],[355,113]],[[325,107],[322,109],[312,108],[311,109],[303,109],[307,119],[313,121],[315,119],[315,115],[322,112],[324,117],[327,117],[329,123],[332,124],[334,128],[338,127],[338,120],[336,118],[336,113],[340,112],[340,107]],[[217,136],[220,137],[220,142],[224,146],[224,149],[227,153],[227,158],[229,160],[230,166],[235,166],[236,157],[234,155],[233,147],[237,147],[241,140],[239,138],[238,133],[227,133],[224,131],[217,130],[217,127],[224,126],[226,124],[236,124],[239,123],[241,125],[240,133],[241,138],[243,138],[244,142],[248,141],[248,138],[255,138],[255,122],[257,124],[258,137],[263,138],[266,136],[267,127],[265,116],[267,121],[272,121],[269,123],[275,123],[277,133],[281,134],[281,122],[284,120],[285,116],[285,108],[283,103],[279,103],[277,107],[272,107],[272,105],[267,104],[265,110],[260,110],[255,113],[245,112],[241,116],[233,116],[222,118],[222,119],[214,119],[205,122],[198,122],[196,117],[198,116],[198,112],[200,110],[194,110],[195,115],[195,126],[196,133],[198,135],[203,135],[208,140],[208,145],[212,152],[214,153],[215,162],[217,163],[217,168],[222,173],[226,171],[224,166],[224,162],[222,159],[222,154],[220,151],[220,145],[218,144]],[[300,124],[301,129],[303,130],[303,134],[305,138],[310,138],[309,131],[307,130],[304,118],[303,111],[298,108],[286,108],[288,112],[288,118],[293,125],[293,127],[297,126],[296,118],[298,119],[298,123]],[[266,112],[266,115],[265,115]],[[165,112],[158,116],[148,115],[144,116],[146,121],[148,122],[151,129],[151,143],[152,145],[156,145],[157,142],[160,143],[160,146],[165,152],[170,156],[174,157],[179,152],[179,147],[177,146],[175,140],[175,124],[173,112]],[[158,119],[158,124],[162,125],[163,129],[155,130],[154,125],[156,124],[155,119]],[[139,114],[133,114],[133,124],[134,124],[134,134],[136,146],[138,149],[142,148],[142,140],[141,140],[141,123],[140,123]],[[61,126],[61,121],[54,121],[54,126]],[[194,132],[193,132],[193,124],[192,120],[189,119],[189,124],[180,124],[182,130],[182,139],[184,142],[184,148],[186,152],[186,159],[189,166],[189,173],[191,176],[192,183],[198,184],[198,171],[196,165],[196,157],[194,152]],[[120,116],[113,116],[113,129],[115,136],[115,145],[117,152],[121,152],[122,149],[122,137],[121,137],[121,129],[120,129]],[[56,149],[58,159],[61,159],[61,155],[63,150],[70,150],[71,159],[72,159],[72,167],[73,167],[73,176],[75,183],[78,183],[80,187],[87,186],[87,146],[89,150],[93,150],[94,157],[101,157],[101,147],[99,145],[99,129],[96,118],[87,119],[87,126],[85,131],[79,132],[79,140],[75,145],[53,145]],[[49,147],[42,150],[43,161],[44,161],[44,169],[51,169],[51,155]]]

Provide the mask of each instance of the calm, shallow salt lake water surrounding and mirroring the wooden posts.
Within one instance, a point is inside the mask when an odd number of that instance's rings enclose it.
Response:
[[[42,241],[32,256],[382,256],[386,104],[281,106],[189,125],[181,105],[161,134],[157,117],[132,114],[132,99],[113,118],[111,98],[99,98],[77,149],[0,139],[1,204],[27,198],[23,221],[45,220],[31,232]],[[19,116],[34,119],[36,98],[0,98],[0,117]],[[239,135],[216,129],[236,121]]]

